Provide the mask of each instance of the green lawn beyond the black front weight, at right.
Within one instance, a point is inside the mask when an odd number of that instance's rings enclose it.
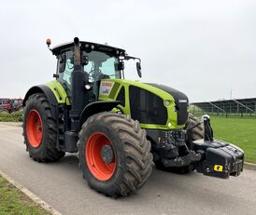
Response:
[[[245,151],[245,160],[256,163],[256,120],[211,117],[214,137],[229,141]]]

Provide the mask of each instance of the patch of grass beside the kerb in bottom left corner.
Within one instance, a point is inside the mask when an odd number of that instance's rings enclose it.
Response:
[[[50,215],[0,176],[0,215]]]

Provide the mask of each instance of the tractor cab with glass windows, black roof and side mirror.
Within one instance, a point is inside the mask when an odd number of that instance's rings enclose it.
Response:
[[[77,62],[77,68],[83,73],[85,89],[91,89],[90,101],[97,101],[99,84],[102,79],[124,78],[123,60],[139,60],[136,68],[139,76],[140,59],[128,56],[125,50],[91,42],[78,41],[78,54],[75,54],[74,42],[66,43],[51,49],[57,57],[57,71],[54,74],[66,89],[69,96],[72,94],[71,74]],[[75,58],[78,58],[75,60]]]

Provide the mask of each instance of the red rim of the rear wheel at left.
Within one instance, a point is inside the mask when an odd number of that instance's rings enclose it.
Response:
[[[43,123],[40,114],[31,110],[26,120],[26,132],[29,143],[37,148],[43,139]]]

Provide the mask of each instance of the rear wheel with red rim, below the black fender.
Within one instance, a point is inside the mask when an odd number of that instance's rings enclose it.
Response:
[[[22,128],[26,149],[34,160],[50,162],[64,156],[56,148],[57,124],[45,94],[33,94],[26,101]]]

